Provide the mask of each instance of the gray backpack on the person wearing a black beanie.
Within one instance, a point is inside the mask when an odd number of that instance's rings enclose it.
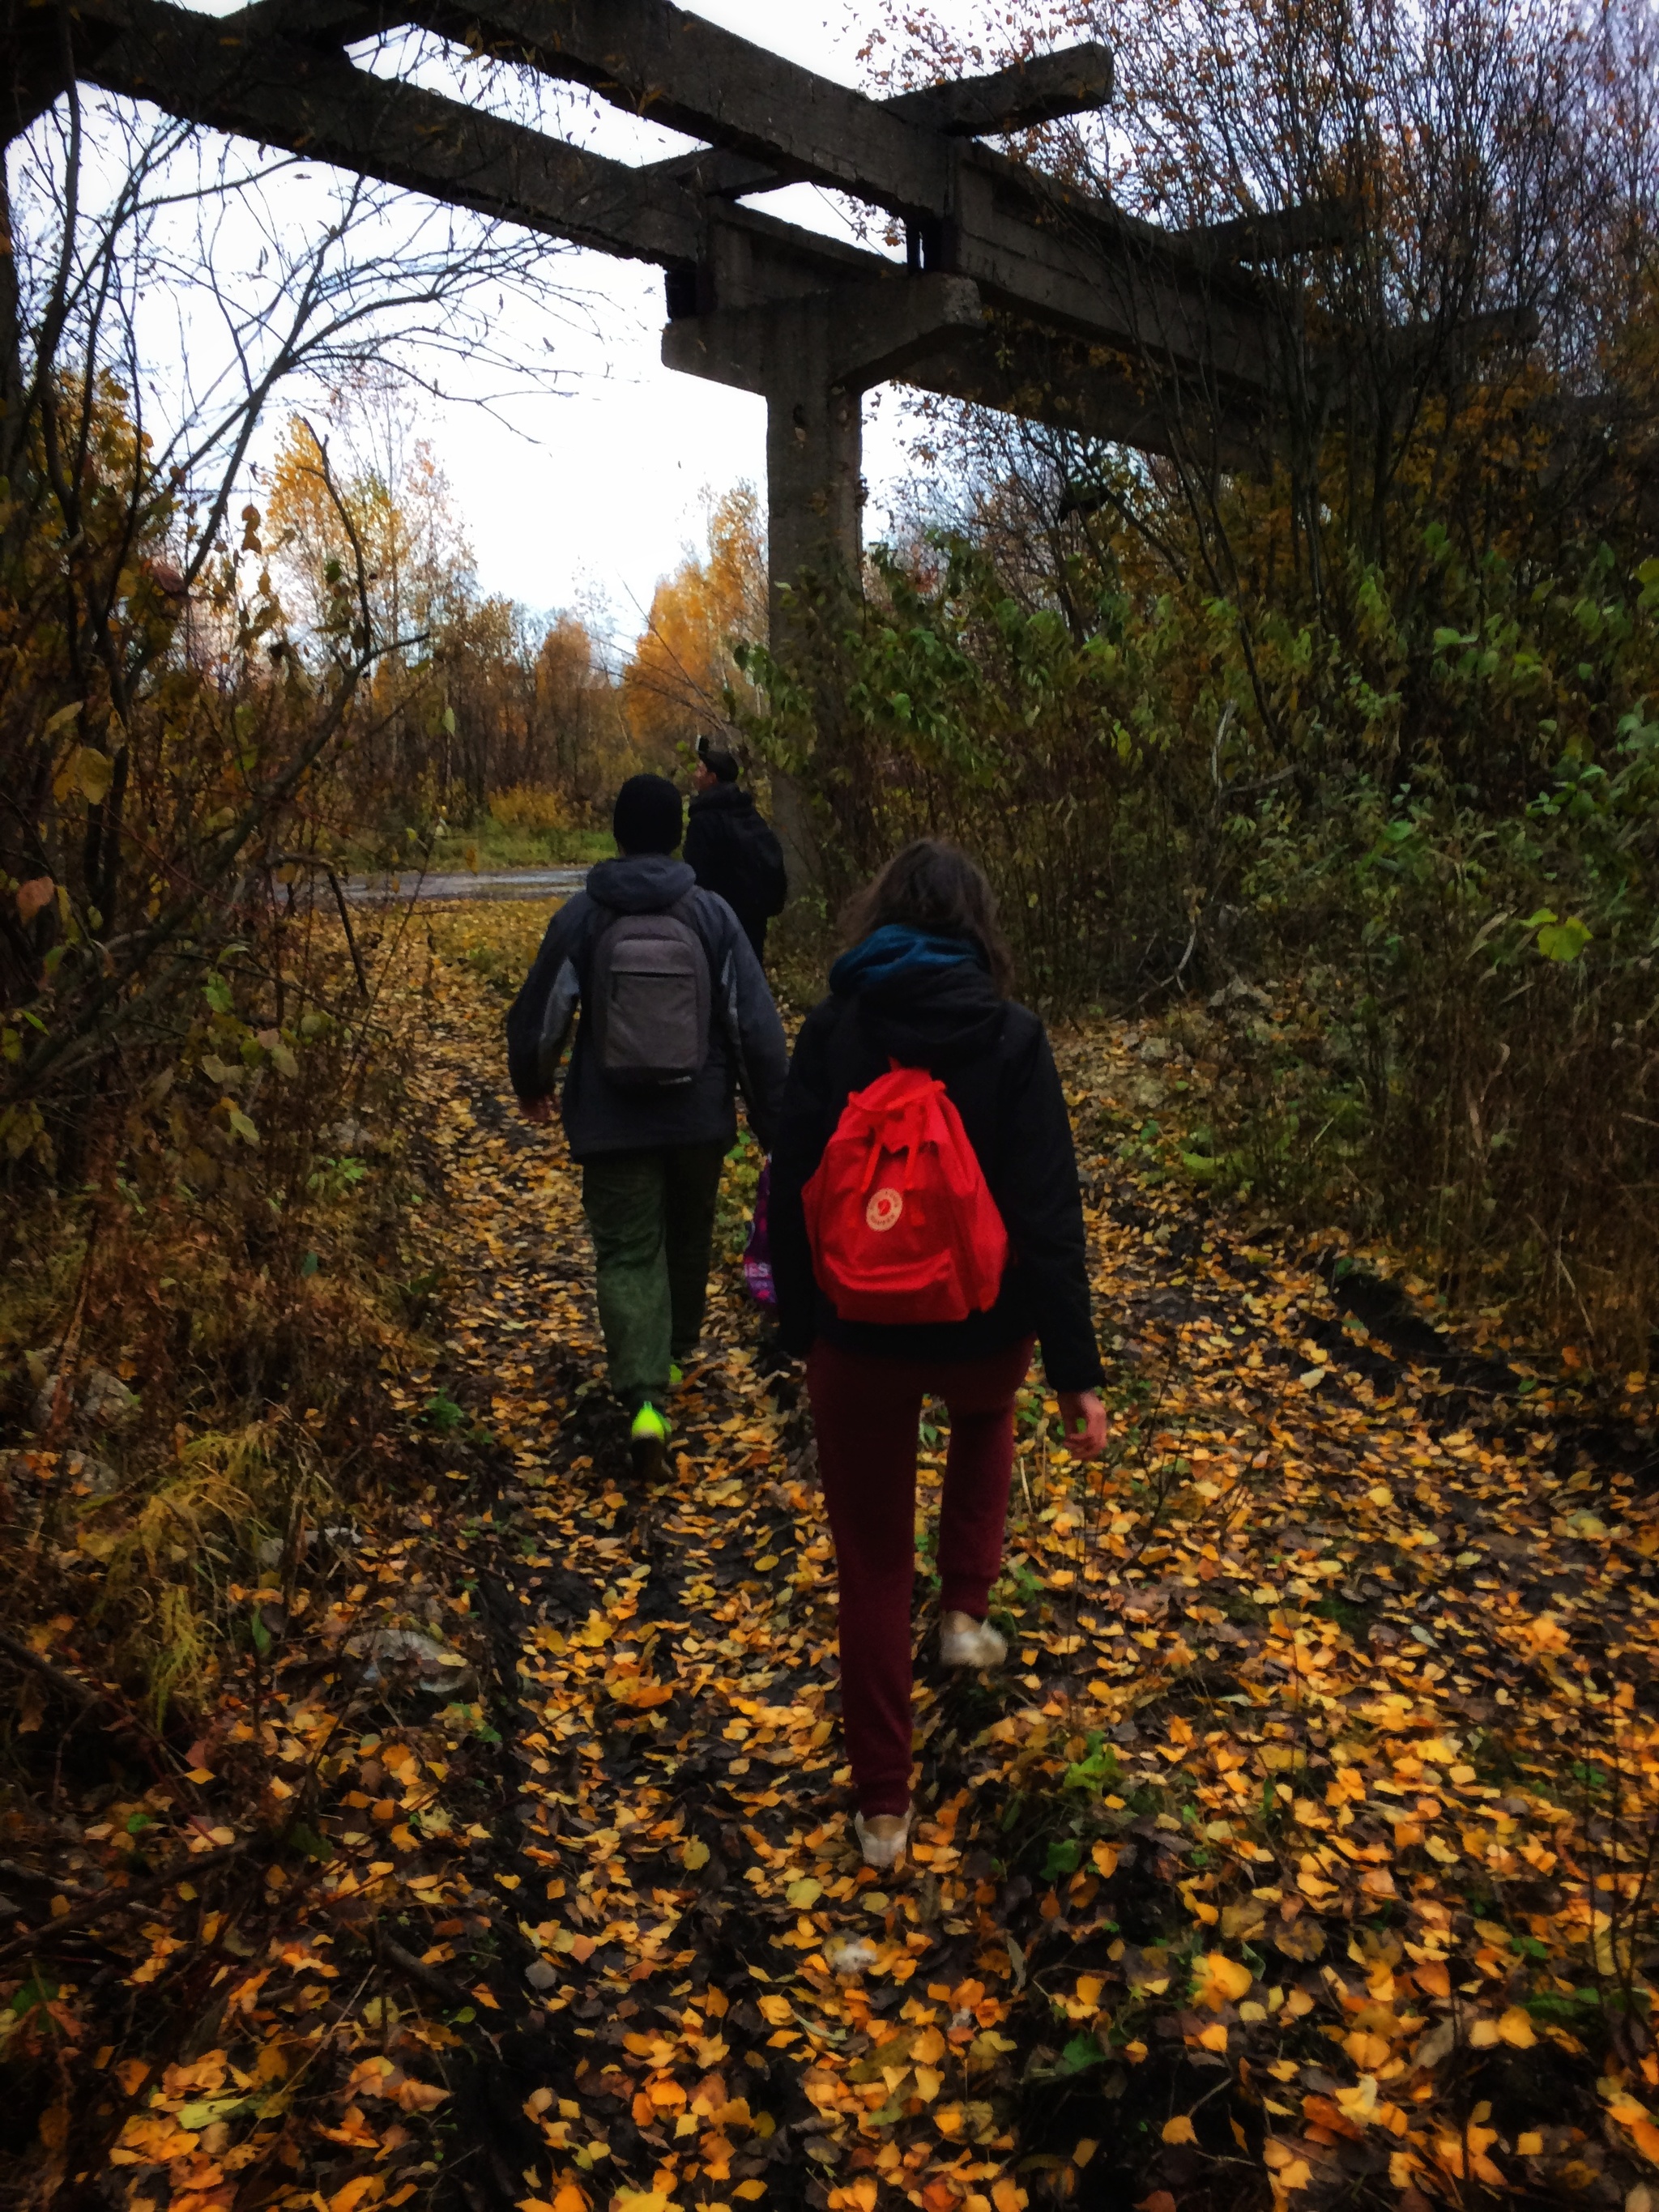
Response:
[[[690,1084],[708,1062],[708,951],[695,891],[659,914],[617,914],[599,931],[588,1009],[599,1066],[624,1091]]]

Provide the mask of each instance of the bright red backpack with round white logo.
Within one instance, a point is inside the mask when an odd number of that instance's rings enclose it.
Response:
[[[854,1091],[801,1203],[841,1321],[967,1321],[995,1305],[1009,1232],[927,1068],[894,1064]]]

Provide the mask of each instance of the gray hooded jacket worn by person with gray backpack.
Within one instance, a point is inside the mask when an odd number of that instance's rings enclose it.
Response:
[[[507,1071],[522,1099],[549,1097],[571,1022],[586,998],[595,942],[611,914],[657,914],[688,891],[712,978],[708,1060],[684,1088],[619,1091],[593,1062],[591,1024],[586,1018],[577,1022],[562,1099],[577,1161],[668,1144],[732,1144],[737,1088],[743,1091],[750,1128],[772,1150],[790,1060],[779,1011],[732,909],[712,891],[699,891],[686,863],[670,854],[602,860],[588,872],[586,889],[560,907],[507,1013]]]

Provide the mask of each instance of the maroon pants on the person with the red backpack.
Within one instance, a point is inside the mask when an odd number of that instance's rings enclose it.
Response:
[[[922,1398],[942,1398],[951,1416],[940,1604],[984,1619],[1002,1568],[1013,1394],[1029,1365],[1029,1338],[978,1360],[885,1360],[825,1343],[807,1358],[841,1579],[841,1717],[865,1816],[909,1805],[909,1606]]]

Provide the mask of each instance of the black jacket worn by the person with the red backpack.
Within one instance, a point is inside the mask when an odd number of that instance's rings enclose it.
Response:
[[[920,1327],[838,1321],[814,1283],[801,1192],[847,1095],[894,1060],[942,1079],[1009,1230],[1009,1272],[989,1314]],[[971,1360],[1037,1336],[1051,1389],[1095,1389],[1102,1380],[1060,1073],[1035,1013],[998,998],[975,962],[836,991],[812,1009],[783,1093],[770,1230],[787,1352],[805,1354],[825,1336],[849,1352]]]

